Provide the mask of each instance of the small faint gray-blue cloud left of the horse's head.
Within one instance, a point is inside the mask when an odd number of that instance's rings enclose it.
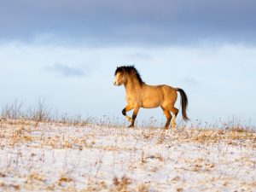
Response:
[[[58,73],[64,77],[81,77],[84,76],[84,70],[78,67],[69,67],[67,65],[56,63],[51,67],[44,67],[44,69],[48,72]]]

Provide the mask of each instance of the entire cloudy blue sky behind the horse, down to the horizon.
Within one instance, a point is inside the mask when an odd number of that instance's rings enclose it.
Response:
[[[60,113],[118,117],[117,66],[186,91],[189,117],[256,125],[253,0],[0,0],[0,107],[38,98]],[[177,108],[179,102],[177,101]],[[164,119],[160,108],[137,119]],[[178,122],[181,117],[177,118]]]

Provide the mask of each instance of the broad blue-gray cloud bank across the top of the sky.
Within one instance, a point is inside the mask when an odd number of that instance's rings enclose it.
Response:
[[[0,40],[82,44],[256,44],[254,0],[3,0]]]

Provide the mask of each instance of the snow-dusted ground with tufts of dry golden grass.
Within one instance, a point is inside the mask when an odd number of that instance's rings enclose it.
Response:
[[[0,122],[0,191],[256,191],[256,133]]]

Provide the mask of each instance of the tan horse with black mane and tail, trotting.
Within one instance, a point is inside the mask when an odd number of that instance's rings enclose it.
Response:
[[[143,82],[140,73],[134,66],[117,67],[114,72],[113,84],[125,85],[126,106],[122,110],[125,118],[131,122],[129,127],[134,127],[134,121],[140,108],[162,108],[166,115],[165,129],[168,129],[170,122],[172,128],[176,126],[175,119],[178,109],[174,107],[177,101],[177,92],[181,96],[182,115],[185,121],[188,121],[186,110],[188,107],[188,97],[184,90],[173,88],[166,84],[148,85]],[[133,110],[132,117],[126,112]]]

